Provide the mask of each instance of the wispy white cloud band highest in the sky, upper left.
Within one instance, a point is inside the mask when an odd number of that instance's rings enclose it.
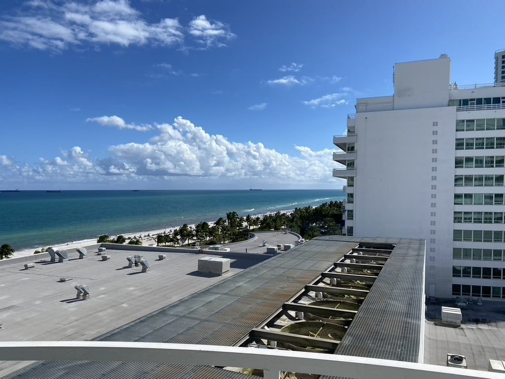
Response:
[[[227,25],[205,15],[194,18],[187,28],[177,18],[147,22],[128,0],[36,0],[25,3],[22,11],[0,17],[0,40],[54,52],[87,44],[181,46],[186,33],[206,48],[225,46],[223,41],[235,37]]]

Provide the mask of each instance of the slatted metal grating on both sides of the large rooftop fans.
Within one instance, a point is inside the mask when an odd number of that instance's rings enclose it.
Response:
[[[424,300],[425,245],[422,240],[412,239],[318,238],[112,330],[97,340],[233,345],[360,242],[396,244],[396,248],[351,323],[342,340],[342,351],[339,348],[338,353],[386,358],[401,349],[403,352],[396,353],[396,357],[404,356],[405,360],[417,361],[421,343],[419,336],[424,325],[421,322],[424,321],[422,302],[418,304],[417,300],[419,296]],[[415,278],[416,275],[419,277]],[[422,287],[420,292],[417,290],[419,283]],[[403,287],[409,285],[415,288],[412,293]],[[362,313],[363,310],[365,312]],[[225,370],[206,371],[207,375],[202,376],[203,370],[208,368],[51,361],[36,363],[7,378],[243,377]]]

